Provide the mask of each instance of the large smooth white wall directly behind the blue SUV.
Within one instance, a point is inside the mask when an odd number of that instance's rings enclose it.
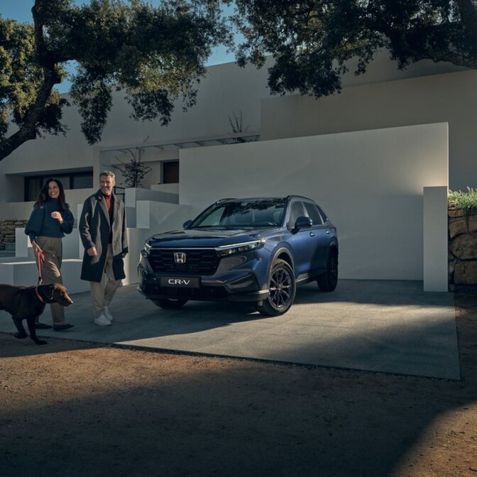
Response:
[[[427,124],[182,150],[180,203],[305,195],[338,229],[341,278],[422,280],[423,187],[447,185],[447,137]]]

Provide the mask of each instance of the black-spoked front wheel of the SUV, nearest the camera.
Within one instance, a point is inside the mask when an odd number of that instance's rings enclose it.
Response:
[[[286,313],[295,301],[295,274],[284,260],[273,263],[270,278],[268,278],[270,293],[263,305],[258,305],[258,312],[269,317]]]

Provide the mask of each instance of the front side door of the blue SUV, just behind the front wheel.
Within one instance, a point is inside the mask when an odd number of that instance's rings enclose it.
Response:
[[[297,280],[306,280],[317,266],[317,234],[316,227],[293,230],[295,221],[300,216],[308,216],[301,200],[295,200],[290,204],[288,227],[292,231],[290,243],[295,260],[295,277]]]

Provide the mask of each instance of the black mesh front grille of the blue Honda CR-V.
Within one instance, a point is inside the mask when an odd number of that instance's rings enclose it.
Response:
[[[185,263],[176,263],[174,253],[185,253]],[[181,273],[183,275],[214,275],[219,266],[219,255],[210,248],[180,250],[151,248],[150,267],[155,273]]]

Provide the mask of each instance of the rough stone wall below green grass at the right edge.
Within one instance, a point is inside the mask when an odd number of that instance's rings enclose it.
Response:
[[[477,285],[477,213],[449,208],[449,285]]]

